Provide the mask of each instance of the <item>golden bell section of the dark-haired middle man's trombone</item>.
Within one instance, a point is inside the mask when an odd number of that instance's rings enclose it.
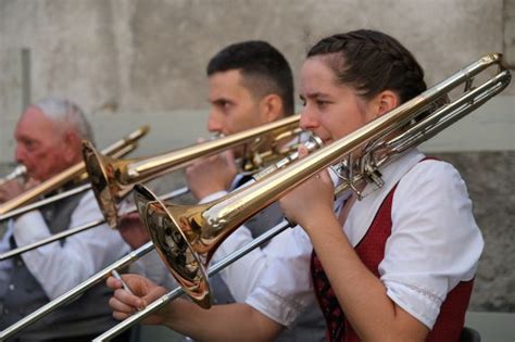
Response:
[[[113,160],[97,152],[90,142],[84,143],[84,160],[99,206],[111,227],[117,223],[116,203],[136,182],[187,166],[196,159],[246,144],[242,169],[255,169],[271,156],[280,155],[279,142],[299,134],[299,115],[289,116],[256,128],[194,144],[151,157]],[[269,151],[273,153],[261,151]],[[266,161],[264,161],[266,160]]]

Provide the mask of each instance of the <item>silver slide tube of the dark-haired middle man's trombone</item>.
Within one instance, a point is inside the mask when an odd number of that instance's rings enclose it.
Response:
[[[89,186],[89,185],[88,185]],[[176,197],[179,197],[179,195],[183,195],[185,193],[187,193],[189,191],[189,189],[187,187],[184,187],[184,188],[179,188],[177,190],[174,190],[172,192],[168,192],[164,195],[162,195],[163,199],[173,199],[173,198],[176,198]],[[39,202],[38,202],[39,203]],[[128,214],[128,213],[133,213],[133,212],[136,212],[136,206],[130,206],[129,208],[127,208],[126,211],[124,211],[122,213],[122,215],[125,215],[125,214]],[[76,235],[78,232],[81,232],[81,231],[85,231],[85,230],[88,230],[90,228],[95,228],[97,226],[100,226],[101,224],[105,223],[105,218],[99,218],[99,219],[96,219],[96,220],[92,220],[92,221],[89,221],[87,224],[84,224],[84,225],[80,225],[76,228],[72,228],[72,229],[66,229],[62,232],[59,232],[56,235],[53,235],[47,239],[42,239],[40,241],[37,241],[37,242],[34,242],[34,243],[29,243],[29,244],[26,244],[26,245],[23,245],[23,246],[20,246],[20,248],[16,248],[14,250],[11,250],[9,252],[5,252],[5,253],[2,253],[0,254],[0,262],[1,261],[4,261],[7,258],[10,258],[10,257],[13,257],[13,256],[16,256],[18,254],[22,254],[22,253],[25,253],[25,252],[28,252],[28,251],[32,251],[32,250],[35,250],[37,248],[40,248],[42,245],[46,245],[46,244],[49,244],[49,243],[52,243],[54,241],[58,241],[58,240],[61,240],[61,239],[64,239],[64,238],[67,238],[70,236],[73,236],[73,235]]]

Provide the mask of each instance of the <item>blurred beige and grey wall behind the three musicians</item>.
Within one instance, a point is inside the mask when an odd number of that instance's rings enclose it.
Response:
[[[515,65],[514,0],[0,0],[0,169],[23,107],[74,100],[105,145],[138,125],[148,155],[206,136],[205,64],[226,45],[267,40],[294,74],[327,35],[397,37],[434,85],[485,53]],[[515,312],[515,86],[423,145],[464,175],[486,239],[470,311]],[[459,246],[456,246],[459,248]]]

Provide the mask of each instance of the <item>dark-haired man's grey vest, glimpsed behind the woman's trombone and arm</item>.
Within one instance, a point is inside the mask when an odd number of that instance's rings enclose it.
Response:
[[[252,237],[255,239],[266,230],[275,227],[282,220],[282,212],[279,204],[274,203],[264,211],[256,214],[249,219],[244,226],[248,227]],[[279,275],[278,275],[279,276]],[[230,294],[229,289],[222,280],[222,277],[216,275],[210,279],[213,289],[214,300],[217,304],[234,303],[235,300]],[[307,307],[297,319],[296,324],[290,329],[285,329],[276,339],[280,342],[314,342],[325,341],[326,324],[318,305]]]

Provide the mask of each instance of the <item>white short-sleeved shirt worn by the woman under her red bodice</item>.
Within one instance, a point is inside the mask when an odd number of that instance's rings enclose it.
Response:
[[[447,294],[460,281],[474,277],[483,241],[459,173],[448,163],[420,162],[423,159],[412,150],[382,168],[386,185],[353,205],[342,229],[355,246],[399,182],[391,210],[392,231],[379,264],[380,279],[388,296],[430,329]],[[268,244],[276,250],[274,261],[267,261],[246,301],[285,326],[316,301],[310,273],[311,241],[300,227],[289,238]]]

